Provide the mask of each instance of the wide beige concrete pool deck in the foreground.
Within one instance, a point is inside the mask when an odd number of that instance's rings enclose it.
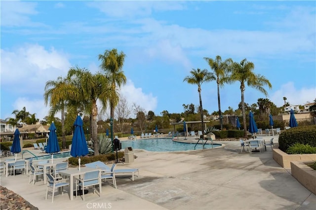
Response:
[[[271,139],[271,137],[264,137]],[[277,142],[277,137],[275,137]],[[239,141],[216,141],[225,146],[187,152],[134,150],[140,177],[117,175],[118,189],[103,184],[101,197],[88,193],[70,201],[68,195],[45,200],[46,185],[29,185],[28,176],[5,177],[1,186],[21,195],[40,210],[315,210],[316,195],[302,186],[289,169],[262,153],[240,153]],[[109,180],[108,180],[109,181]],[[67,190],[67,188],[66,188]]]

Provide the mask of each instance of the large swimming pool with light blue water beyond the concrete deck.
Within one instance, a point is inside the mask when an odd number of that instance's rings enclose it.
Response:
[[[194,147],[196,145],[196,143],[182,143],[166,138],[121,141],[121,143],[122,149],[124,149],[125,147],[132,147],[133,149],[144,149],[151,152],[189,151],[194,150]],[[213,148],[219,147],[221,145],[222,144],[213,143]],[[212,145],[205,144],[204,148],[212,148]],[[202,149],[202,144],[197,144],[196,149]]]

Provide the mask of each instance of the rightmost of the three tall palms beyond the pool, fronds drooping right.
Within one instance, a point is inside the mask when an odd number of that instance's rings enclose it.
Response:
[[[264,95],[268,95],[267,91],[263,88],[264,85],[268,85],[271,89],[272,85],[270,81],[263,75],[255,74],[253,72],[255,66],[252,62],[248,62],[247,59],[243,59],[240,63],[234,62],[232,68],[230,69],[231,74],[228,78],[229,83],[235,81],[240,82],[240,92],[241,92],[241,110],[243,118],[243,130],[244,138],[247,138],[247,125],[246,125],[246,113],[245,113],[245,103],[244,103],[244,91],[245,83],[249,87],[259,90]]]

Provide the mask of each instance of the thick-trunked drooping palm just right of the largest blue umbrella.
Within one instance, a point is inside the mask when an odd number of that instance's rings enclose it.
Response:
[[[76,87],[77,92],[72,100],[78,102],[90,114],[91,138],[94,142],[94,155],[99,155],[99,141],[97,131],[97,101],[103,108],[107,107],[107,102],[111,97],[111,85],[109,79],[102,73],[92,74],[89,70],[71,68],[67,75],[69,81]],[[75,96],[75,97],[74,97]]]

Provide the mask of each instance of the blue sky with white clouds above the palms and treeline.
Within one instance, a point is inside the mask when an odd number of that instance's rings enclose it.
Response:
[[[126,54],[121,95],[156,115],[198,105],[197,86],[183,79],[210,70],[203,57],[217,55],[253,62],[277,106],[284,96],[292,105],[316,98],[315,1],[1,0],[0,7],[1,119],[24,106],[42,119],[45,82],[75,66],[96,72],[98,55],[113,48]],[[239,85],[220,90],[222,110],[237,108]],[[216,82],[201,88],[203,108],[218,110]],[[258,98],[266,97],[246,86],[245,102]]]

